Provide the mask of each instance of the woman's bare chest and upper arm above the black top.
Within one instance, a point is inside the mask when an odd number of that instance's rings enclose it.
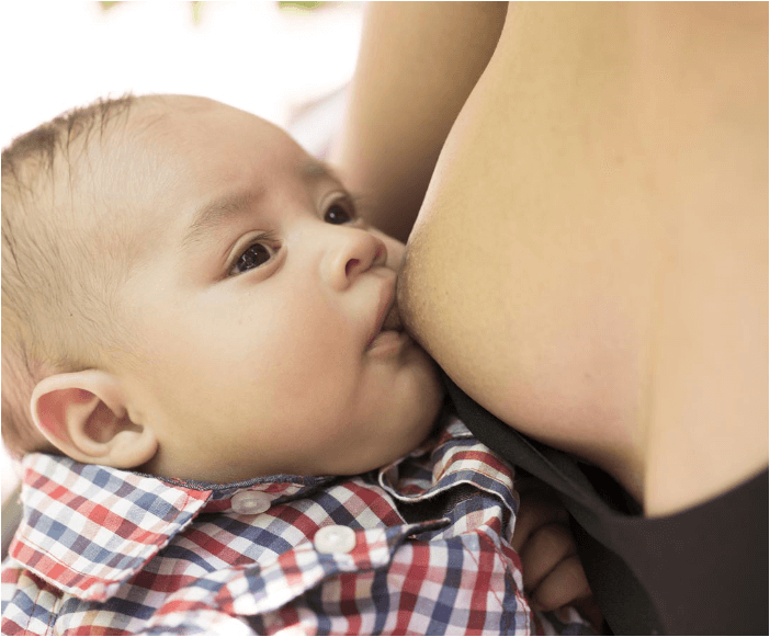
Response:
[[[767,467],[767,4],[367,11],[332,160],[375,225],[417,217],[426,350],[648,516]]]

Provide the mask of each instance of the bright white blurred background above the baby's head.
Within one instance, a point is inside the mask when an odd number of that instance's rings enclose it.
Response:
[[[362,2],[3,3],[0,141],[99,96],[205,95],[287,127],[322,156],[343,115]],[[2,499],[15,487],[1,452]]]

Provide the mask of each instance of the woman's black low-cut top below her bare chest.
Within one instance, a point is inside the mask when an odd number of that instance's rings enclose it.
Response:
[[[645,519],[608,474],[512,430],[444,380],[479,441],[558,491],[614,634],[768,634],[767,469],[705,504]]]

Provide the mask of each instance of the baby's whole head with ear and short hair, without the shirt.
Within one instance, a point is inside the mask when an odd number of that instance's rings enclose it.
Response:
[[[284,132],[201,98],[100,102],[2,156],[12,451],[226,482],[355,474],[429,433],[388,309],[404,246]]]

